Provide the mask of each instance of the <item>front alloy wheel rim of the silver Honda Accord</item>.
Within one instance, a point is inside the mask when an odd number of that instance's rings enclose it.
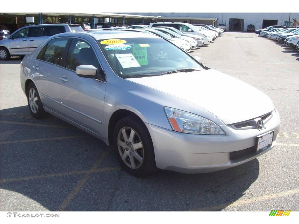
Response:
[[[144,161],[144,149],[139,135],[129,127],[118,133],[118,152],[123,162],[132,169],[138,169]]]

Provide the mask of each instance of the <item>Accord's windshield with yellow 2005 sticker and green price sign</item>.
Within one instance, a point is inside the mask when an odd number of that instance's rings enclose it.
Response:
[[[181,69],[205,69],[162,38],[103,39],[98,42],[111,67],[122,78],[157,76]]]

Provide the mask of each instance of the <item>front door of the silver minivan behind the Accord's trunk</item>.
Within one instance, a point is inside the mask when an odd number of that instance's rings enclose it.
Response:
[[[29,28],[23,28],[9,39],[11,55],[25,55],[28,53],[28,32]]]

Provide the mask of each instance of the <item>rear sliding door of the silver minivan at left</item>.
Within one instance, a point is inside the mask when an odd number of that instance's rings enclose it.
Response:
[[[37,26],[29,28],[28,35],[28,52],[32,52],[36,47],[48,39],[47,30],[45,26]]]

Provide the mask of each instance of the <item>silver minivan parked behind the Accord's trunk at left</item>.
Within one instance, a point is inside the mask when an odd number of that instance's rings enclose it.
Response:
[[[79,24],[42,24],[22,27],[0,41],[0,60],[30,53],[55,34],[81,31],[83,29]]]

